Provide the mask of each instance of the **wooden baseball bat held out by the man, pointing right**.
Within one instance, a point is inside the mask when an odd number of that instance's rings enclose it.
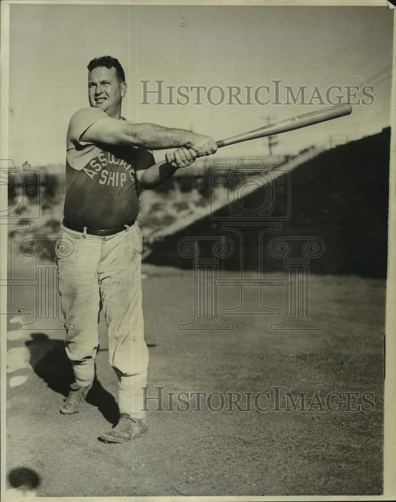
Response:
[[[324,110],[311,111],[310,113],[304,113],[303,115],[287,118],[281,122],[275,122],[273,124],[269,124],[268,126],[248,131],[247,133],[226,138],[225,140],[216,141],[217,148],[241,143],[242,141],[254,140],[256,138],[265,138],[274,134],[286,133],[287,131],[294,131],[295,129],[301,129],[307,126],[313,126],[313,124],[317,124],[319,122],[326,122],[327,120],[332,120],[333,118],[349,115],[351,111],[352,106],[350,104],[337,104],[336,106],[330,106]]]

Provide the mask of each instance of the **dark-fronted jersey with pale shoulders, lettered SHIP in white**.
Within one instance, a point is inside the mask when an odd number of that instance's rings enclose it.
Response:
[[[99,108],[82,108],[69,123],[64,216],[76,225],[117,227],[139,213],[135,166],[141,149],[81,140],[94,122],[107,116]]]

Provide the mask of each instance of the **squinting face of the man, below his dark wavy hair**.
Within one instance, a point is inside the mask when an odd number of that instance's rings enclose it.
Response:
[[[115,68],[98,66],[88,73],[89,104],[94,108],[110,116],[119,113],[125,92],[126,84],[119,82]]]

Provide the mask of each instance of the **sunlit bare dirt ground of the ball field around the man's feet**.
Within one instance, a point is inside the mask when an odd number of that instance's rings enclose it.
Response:
[[[27,349],[28,361],[25,368],[15,363],[7,378],[8,472],[34,469],[40,496],[381,493],[384,281],[312,276],[310,316],[325,325],[321,331],[273,330],[280,316],[268,315],[222,315],[232,330],[181,331],[178,323],[193,318],[192,271],[144,266],[144,273],[149,395],[156,386],[254,395],[281,387],[294,396],[306,392],[308,401],[315,392],[370,392],[373,409],[156,411],[152,400],[145,437],[103,444],[97,436],[111,428],[117,411],[103,323],[98,383],[73,416],[59,413],[71,379],[62,331],[13,339],[18,324],[11,324],[8,350]],[[258,289],[248,289],[246,302],[256,303]],[[30,294],[17,288],[13,300],[26,305]],[[283,309],[282,288],[266,289],[265,301]],[[222,288],[219,302],[238,305],[238,290]],[[26,381],[10,387],[15,376]]]

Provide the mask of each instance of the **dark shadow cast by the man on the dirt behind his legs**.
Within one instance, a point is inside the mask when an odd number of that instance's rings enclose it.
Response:
[[[31,336],[32,339],[25,343],[30,351],[29,362],[35,373],[50,389],[66,398],[70,385],[74,382],[74,374],[63,341],[50,340],[45,333],[34,333]],[[96,376],[92,389],[87,394],[86,402],[96,406],[107,422],[112,425],[117,423],[118,405],[114,397],[102,387]]]

